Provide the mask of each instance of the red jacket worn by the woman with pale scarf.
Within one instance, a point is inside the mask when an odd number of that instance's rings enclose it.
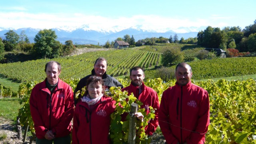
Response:
[[[115,101],[103,96],[91,110],[86,102],[78,101],[75,108],[72,144],[110,144],[110,114]]]

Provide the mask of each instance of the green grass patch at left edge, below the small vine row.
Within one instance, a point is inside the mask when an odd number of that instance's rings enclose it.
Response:
[[[18,109],[22,106],[18,98],[2,98],[0,99],[0,117],[6,120],[16,121]]]

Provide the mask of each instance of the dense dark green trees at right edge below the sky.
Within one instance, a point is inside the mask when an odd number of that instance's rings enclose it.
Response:
[[[198,32],[198,43],[203,47],[238,49],[240,52],[256,51],[256,20],[254,24],[246,26],[243,30],[237,27],[212,28],[208,26],[204,31]]]

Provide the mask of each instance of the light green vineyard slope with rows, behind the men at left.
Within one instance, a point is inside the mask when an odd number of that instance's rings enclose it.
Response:
[[[82,78],[91,73],[98,57],[108,61],[107,73],[112,76],[126,75],[130,68],[141,66],[153,68],[160,61],[160,53],[141,51],[138,49],[118,49],[109,51],[94,51],[60,57],[56,59],[38,59],[23,63],[0,64],[1,76],[14,81],[42,81],[45,78],[44,65],[50,61],[58,61],[62,65],[61,78]]]

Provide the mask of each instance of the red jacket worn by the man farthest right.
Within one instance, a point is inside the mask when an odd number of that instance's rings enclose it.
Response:
[[[159,108],[159,125],[167,144],[204,144],[210,123],[206,90],[191,83],[164,91]]]

